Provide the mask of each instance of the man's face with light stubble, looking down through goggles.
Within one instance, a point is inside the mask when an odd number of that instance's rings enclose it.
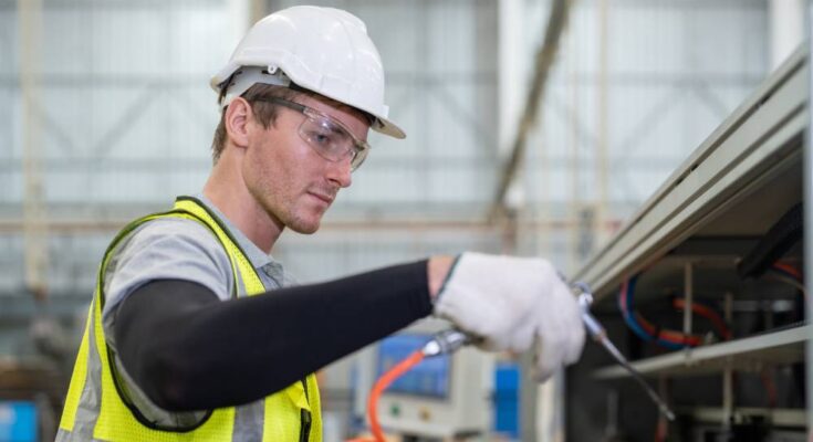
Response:
[[[367,139],[369,122],[358,112],[306,95],[292,101],[337,119],[356,138]],[[298,110],[279,106],[277,120],[264,129],[252,117],[243,179],[280,229],[313,233],[338,190],[350,187],[351,158],[331,161],[319,155],[299,134],[305,118]]]

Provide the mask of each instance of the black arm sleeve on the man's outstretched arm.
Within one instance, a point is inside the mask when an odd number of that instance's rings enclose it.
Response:
[[[226,302],[192,282],[154,281],[118,306],[118,357],[163,409],[247,403],[431,313],[426,266]]]

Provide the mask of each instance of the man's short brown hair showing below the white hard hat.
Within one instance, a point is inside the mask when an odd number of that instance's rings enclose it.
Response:
[[[222,99],[225,91],[220,94]],[[274,86],[270,84],[257,83],[246,91],[241,97],[246,98],[251,105],[251,110],[254,113],[254,119],[262,125],[263,128],[268,129],[277,120],[277,110],[279,105],[268,102],[257,101],[258,98],[282,98],[288,101],[294,101],[298,96],[310,95],[317,96],[316,93],[303,90],[303,88],[290,88],[283,86]],[[215,137],[211,140],[211,160],[212,164],[217,164],[220,159],[220,154],[223,152],[226,147],[226,107],[220,113],[220,123],[218,123],[217,129],[215,129]]]

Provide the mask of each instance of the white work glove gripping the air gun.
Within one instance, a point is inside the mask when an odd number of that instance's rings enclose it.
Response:
[[[435,303],[435,314],[479,337],[480,348],[522,352],[536,338],[542,382],[579,360],[584,326],[576,297],[545,260],[460,255]]]

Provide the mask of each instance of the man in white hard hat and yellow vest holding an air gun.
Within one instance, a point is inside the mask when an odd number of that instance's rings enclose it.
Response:
[[[429,314],[486,349],[535,338],[541,379],[577,359],[579,308],[545,261],[465,253],[292,286],[269,256],[285,228],[319,229],[369,128],[404,137],[361,20],[271,14],[212,86],[211,176],[110,245],[58,440],[320,441],[312,373]]]

